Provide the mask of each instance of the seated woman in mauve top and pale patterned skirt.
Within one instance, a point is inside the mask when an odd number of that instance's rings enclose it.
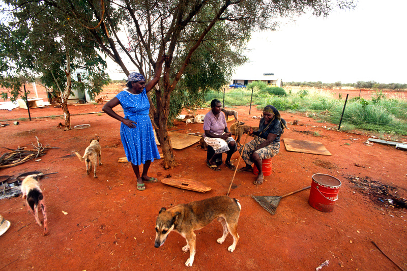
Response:
[[[216,164],[216,160],[222,157],[222,153],[226,153],[225,165],[229,169],[235,170],[236,167],[230,162],[230,158],[238,150],[238,147],[227,128],[225,114],[221,108],[222,103],[219,100],[212,100],[211,111],[203,118],[203,130],[205,131],[203,139],[208,147],[211,146],[215,150],[215,154],[207,160],[207,165],[209,168],[219,171],[220,167]]]

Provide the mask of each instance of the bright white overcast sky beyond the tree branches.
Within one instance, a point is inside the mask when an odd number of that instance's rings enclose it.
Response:
[[[250,63],[236,73],[274,73],[284,82],[407,83],[406,10],[404,0],[359,0],[355,10],[325,19],[307,14],[276,32],[254,33]],[[126,78],[117,70],[108,73]]]

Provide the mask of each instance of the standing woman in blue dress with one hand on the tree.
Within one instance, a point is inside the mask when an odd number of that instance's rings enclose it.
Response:
[[[126,153],[127,161],[131,162],[137,178],[137,189],[145,190],[144,183],[156,183],[157,179],[148,176],[149,167],[154,159],[160,159],[154,138],[149,111],[150,102],[147,94],[158,83],[161,76],[162,63],[165,56],[157,63],[154,78],[146,84],[146,79],[139,73],[131,73],[127,78],[127,89],[120,92],[107,102],[102,110],[109,116],[122,122],[120,136]],[[125,116],[113,111],[113,107],[121,105]],[[143,165],[140,176],[138,166]]]

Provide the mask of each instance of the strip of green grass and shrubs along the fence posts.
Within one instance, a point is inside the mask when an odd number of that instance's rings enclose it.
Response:
[[[397,93],[395,96],[376,93],[371,95],[371,100],[360,97],[348,99],[347,95],[345,99],[337,99],[333,93],[326,90],[290,89],[287,92],[281,89],[231,89],[210,92],[206,94],[205,100],[209,104],[211,100],[218,99],[224,107],[229,108],[249,106],[249,114],[252,107],[261,109],[271,104],[281,111],[314,112],[318,117],[339,124],[338,129],[341,123],[344,123],[366,130],[407,134],[407,98],[404,93]],[[318,114],[321,112],[324,114]]]

